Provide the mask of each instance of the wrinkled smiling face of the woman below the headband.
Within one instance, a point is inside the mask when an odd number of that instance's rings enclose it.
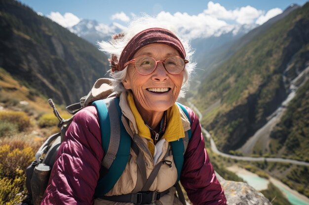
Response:
[[[180,55],[171,46],[154,43],[139,49],[133,59],[140,56],[165,60],[168,57]],[[170,108],[176,102],[183,78],[184,71],[176,75],[169,74],[162,62],[158,62],[154,72],[149,75],[139,74],[135,70],[134,64],[130,63],[127,76],[122,83],[124,88],[132,90],[137,110],[140,114],[145,115],[145,113],[160,113]]]

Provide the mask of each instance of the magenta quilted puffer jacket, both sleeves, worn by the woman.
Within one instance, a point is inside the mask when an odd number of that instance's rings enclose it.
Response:
[[[180,177],[193,205],[226,205],[205,149],[201,126],[193,111],[192,138]],[[59,148],[41,205],[92,205],[104,150],[95,107],[79,111]]]

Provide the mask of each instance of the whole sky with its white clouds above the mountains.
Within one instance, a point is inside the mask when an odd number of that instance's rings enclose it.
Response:
[[[306,0],[19,0],[61,26],[75,32],[73,26],[82,19],[110,36],[125,29],[141,12],[168,22],[181,37],[192,40],[220,36],[239,30],[250,30],[280,14],[292,3],[303,5]],[[76,32],[78,33],[78,32]]]

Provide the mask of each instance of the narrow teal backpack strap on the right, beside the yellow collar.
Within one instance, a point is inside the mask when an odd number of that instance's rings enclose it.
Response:
[[[177,105],[182,109],[182,111],[186,114],[187,118],[190,121],[191,124],[191,118],[189,116],[189,113],[185,106],[177,102]],[[189,140],[191,139],[191,129],[185,132],[185,138],[180,138],[178,141],[173,141],[171,142],[171,147],[172,147],[172,152],[173,152],[173,159],[175,166],[177,168],[177,181],[176,184],[178,183],[181,175],[181,171],[183,168],[184,164],[184,154],[186,152]]]

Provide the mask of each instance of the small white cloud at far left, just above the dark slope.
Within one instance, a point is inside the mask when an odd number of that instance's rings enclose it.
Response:
[[[80,22],[80,19],[73,13],[65,13],[63,16],[59,12],[51,12],[48,18],[63,26],[64,28],[73,27]]]

